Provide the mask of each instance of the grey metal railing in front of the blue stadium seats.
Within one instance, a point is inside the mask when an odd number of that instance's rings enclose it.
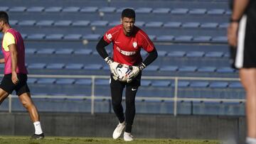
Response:
[[[49,96],[49,95],[36,95],[36,98],[55,98],[55,99],[91,99],[91,113],[94,114],[95,99],[111,99],[110,96],[95,96],[95,79],[110,79],[110,76],[102,75],[43,75],[43,74],[29,74],[28,77],[35,78],[73,78],[73,79],[91,79],[91,95],[90,96]],[[238,78],[223,78],[223,77],[149,77],[142,76],[142,79],[157,79],[157,80],[174,80],[174,97],[146,97],[139,96],[136,99],[149,99],[149,100],[170,100],[174,101],[174,116],[177,115],[177,101],[242,101],[245,99],[206,99],[206,98],[180,98],[178,97],[178,82],[180,80],[208,80],[208,81],[240,81]],[[9,113],[11,113],[11,99],[14,96],[9,95]]]

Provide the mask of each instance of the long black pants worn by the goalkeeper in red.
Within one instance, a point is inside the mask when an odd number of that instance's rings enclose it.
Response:
[[[119,82],[118,80],[114,80],[112,77],[110,81],[113,110],[117,118],[119,119],[120,123],[125,121],[125,132],[127,133],[131,133],[132,131],[132,123],[134,121],[135,116],[135,96],[140,86],[140,79],[141,74],[139,74],[131,83]],[[122,106],[122,93],[124,91],[124,87],[126,88],[125,116],[124,109]]]

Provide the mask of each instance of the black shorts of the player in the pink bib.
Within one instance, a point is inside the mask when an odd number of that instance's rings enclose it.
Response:
[[[20,96],[21,94],[30,92],[28,89],[28,84],[26,83],[28,77],[27,74],[17,74],[18,84],[14,84],[11,81],[11,74],[4,74],[4,78],[1,81],[0,88],[4,89],[5,92],[11,94],[14,90],[16,94]]]

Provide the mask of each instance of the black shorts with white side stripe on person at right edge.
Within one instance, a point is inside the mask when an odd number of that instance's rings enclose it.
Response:
[[[230,48],[231,64],[235,68],[256,67],[256,22],[251,16],[242,16],[238,30],[238,46]]]

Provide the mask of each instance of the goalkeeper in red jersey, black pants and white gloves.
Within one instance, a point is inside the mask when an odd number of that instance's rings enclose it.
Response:
[[[114,129],[113,138],[117,139],[124,131],[124,140],[134,140],[131,131],[132,123],[135,116],[135,95],[140,86],[142,70],[151,62],[156,60],[157,52],[154,44],[149,39],[149,36],[140,28],[134,26],[135,12],[132,9],[124,9],[122,11],[121,24],[111,28],[97,43],[97,52],[110,65],[111,78],[110,89],[112,96],[112,106],[116,114],[119,124]],[[109,57],[105,47],[110,43],[113,44],[113,57]],[[140,55],[141,49],[146,50],[149,55],[142,62]],[[129,72],[127,82],[118,80],[117,65],[129,65],[132,67],[132,72]],[[122,107],[122,92],[126,87],[125,92],[125,116]]]

